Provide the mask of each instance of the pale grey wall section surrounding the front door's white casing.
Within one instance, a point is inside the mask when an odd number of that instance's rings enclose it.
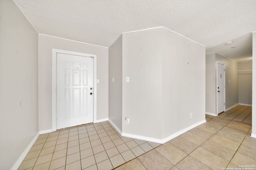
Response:
[[[52,129],[52,49],[97,56],[97,120],[108,118],[108,48],[39,34],[38,101],[39,131]]]

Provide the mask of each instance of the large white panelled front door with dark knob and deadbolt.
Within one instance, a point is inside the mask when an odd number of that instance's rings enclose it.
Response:
[[[57,53],[57,129],[93,122],[93,62]]]

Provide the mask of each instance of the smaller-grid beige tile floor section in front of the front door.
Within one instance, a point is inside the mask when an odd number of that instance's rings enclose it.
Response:
[[[122,137],[108,122],[40,135],[18,170],[111,170],[160,144]]]

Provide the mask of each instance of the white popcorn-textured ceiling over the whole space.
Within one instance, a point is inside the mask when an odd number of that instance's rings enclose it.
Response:
[[[256,31],[255,0],[14,0],[38,33],[109,47],[123,32],[164,26],[223,51]],[[241,43],[238,43],[241,45]],[[239,49],[240,47],[234,48]],[[229,48],[230,49],[230,48]],[[224,54],[222,54],[224,55]],[[232,58],[226,52],[226,56]],[[236,59],[239,57],[236,56]]]

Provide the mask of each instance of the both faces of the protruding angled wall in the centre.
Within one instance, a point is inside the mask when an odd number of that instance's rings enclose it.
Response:
[[[204,46],[163,27],[123,34],[123,133],[164,139],[204,121],[204,104]]]

